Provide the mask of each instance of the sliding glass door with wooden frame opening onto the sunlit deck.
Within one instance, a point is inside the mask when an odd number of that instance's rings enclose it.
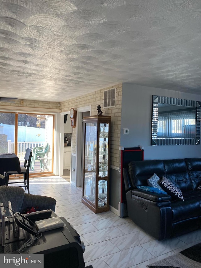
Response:
[[[53,171],[54,116],[30,113],[0,113],[0,153],[14,152],[24,164],[32,148],[30,173]]]

